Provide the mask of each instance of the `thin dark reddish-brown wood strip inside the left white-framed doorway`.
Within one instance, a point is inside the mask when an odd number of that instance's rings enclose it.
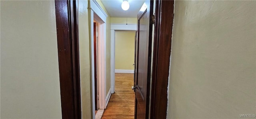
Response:
[[[98,110],[98,88],[97,88],[97,38],[96,38],[96,22],[93,23],[94,38],[94,89],[95,89],[95,110]]]

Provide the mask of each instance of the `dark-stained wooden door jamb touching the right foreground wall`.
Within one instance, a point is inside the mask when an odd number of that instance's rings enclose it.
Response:
[[[173,0],[156,1],[150,119],[166,119]]]

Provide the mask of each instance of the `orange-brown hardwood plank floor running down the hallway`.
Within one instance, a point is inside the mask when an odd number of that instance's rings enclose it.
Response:
[[[133,75],[115,74],[115,93],[111,95],[101,119],[134,119]]]

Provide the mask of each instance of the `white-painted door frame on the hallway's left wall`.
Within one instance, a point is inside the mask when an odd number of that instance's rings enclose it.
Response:
[[[89,13],[89,37],[90,37],[90,56],[92,65],[91,70],[91,94],[92,94],[92,116],[95,118],[95,89],[94,89],[94,34],[93,25],[96,21],[98,26],[98,44],[97,44],[97,59],[98,59],[98,95],[99,95],[99,108],[106,108],[106,18],[108,15],[100,7],[96,0],[88,1],[88,13]]]

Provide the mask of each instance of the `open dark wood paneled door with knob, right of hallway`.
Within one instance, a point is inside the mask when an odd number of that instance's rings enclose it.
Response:
[[[135,69],[135,119],[148,119],[153,1],[146,0],[138,13],[138,39]]]

